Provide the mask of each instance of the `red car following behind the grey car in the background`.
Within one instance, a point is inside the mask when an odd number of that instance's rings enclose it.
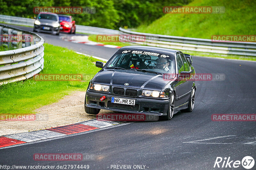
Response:
[[[70,34],[76,33],[76,21],[73,20],[73,17],[68,15],[59,15],[60,21],[60,32],[67,32]]]

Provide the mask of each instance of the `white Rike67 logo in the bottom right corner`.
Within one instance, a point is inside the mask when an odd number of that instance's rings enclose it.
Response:
[[[251,156],[245,156],[242,161],[240,160],[231,160],[230,157],[225,157],[224,159],[222,157],[217,157],[214,163],[214,168],[238,168],[241,167],[241,165],[245,169],[251,169],[254,166],[254,159]]]

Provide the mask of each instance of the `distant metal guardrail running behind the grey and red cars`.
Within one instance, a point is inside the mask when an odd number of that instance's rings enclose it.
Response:
[[[8,24],[34,26],[35,19],[0,15],[0,21]],[[119,34],[118,30],[98,28],[92,26],[76,25],[76,32],[85,34]]]

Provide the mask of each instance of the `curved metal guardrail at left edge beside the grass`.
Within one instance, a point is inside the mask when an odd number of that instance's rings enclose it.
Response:
[[[15,50],[0,52],[0,85],[9,82],[22,81],[44,68],[44,39],[33,32],[26,32],[11,26],[0,24],[1,40],[3,36],[26,34],[30,41],[16,43],[3,43],[3,46],[13,46]],[[25,47],[24,47],[25,46]],[[22,48],[23,47],[23,48]]]

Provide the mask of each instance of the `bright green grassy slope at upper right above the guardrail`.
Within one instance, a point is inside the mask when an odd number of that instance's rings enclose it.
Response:
[[[135,31],[211,39],[212,35],[255,35],[254,0],[194,0],[186,6],[224,6],[224,14],[165,14]]]

